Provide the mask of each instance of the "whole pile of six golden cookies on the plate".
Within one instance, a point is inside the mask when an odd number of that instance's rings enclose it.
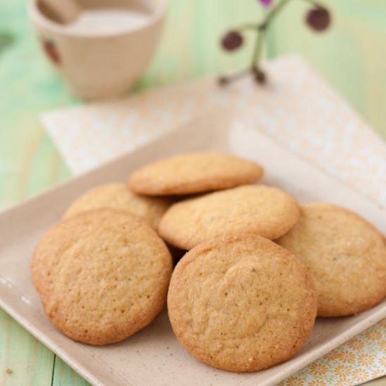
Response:
[[[104,345],[149,324],[167,296],[194,357],[258,371],[298,352],[317,316],[385,298],[382,235],[345,208],[251,185],[262,173],[227,154],[184,154],[87,192],[36,246],[46,314],[70,338]],[[187,251],[173,274],[164,241]]]

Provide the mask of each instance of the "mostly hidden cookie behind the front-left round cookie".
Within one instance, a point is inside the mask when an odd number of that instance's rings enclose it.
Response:
[[[159,221],[170,201],[160,198],[141,197],[131,192],[126,184],[113,183],[94,187],[76,199],[65,212],[64,218],[98,208],[112,208],[138,215],[157,229]]]

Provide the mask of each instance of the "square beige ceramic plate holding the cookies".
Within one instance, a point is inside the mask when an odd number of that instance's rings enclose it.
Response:
[[[93,385],[275,385],[352,336],[386,317],[386,300],[352,317],[318,319],[307,345],[290,361],[258,373],[227,373],[199,363],[175,339],[166,312],[124,342],[91,347],[59,333],[44,316],[29,278],[39,237],[60,219],[70,201],[100,183],[124,181],[138,166],[171,154],[218,150],[265,166],[262,182],[300,202],[329,201],[360,213],[386,234],[386,211],[312,164],[295,157],[228,114],[200,117],[90,173],[0,214],[0,306]]]

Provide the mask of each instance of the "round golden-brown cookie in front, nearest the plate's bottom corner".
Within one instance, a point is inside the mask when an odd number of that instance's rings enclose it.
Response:
[[[305,344],[317,293],[302,262],[273,241],[222,237],[178,262],[168,314],[178,340],[199,361],[227,371],[259,371]]]

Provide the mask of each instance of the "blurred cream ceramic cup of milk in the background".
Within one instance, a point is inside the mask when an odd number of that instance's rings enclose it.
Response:
[[[69,90],[86,99],[128,91],[157,48],[167,5],[166,0],[75,0],[77,17],[60,23],[39,1],[29,0],[29,15],[41,47]]]

